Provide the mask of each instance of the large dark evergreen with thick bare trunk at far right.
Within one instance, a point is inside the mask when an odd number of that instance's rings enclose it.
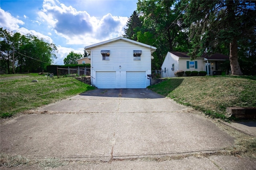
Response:
[[[184,2],[183,2],[184,3]],[[188,2],[184,4],[186,6]],[[242,0],[190,1],[185,20],[190,24],[192,59],[205,51],[219,52],[227,45],[233,75],[242,75],[238,63],[238,44],[256,28],[256,2]]]

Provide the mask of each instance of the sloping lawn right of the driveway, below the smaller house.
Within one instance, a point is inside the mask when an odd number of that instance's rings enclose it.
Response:
[[[226,119],[226,107],[256,107],[256,76],[174,77],[148,88],[213,118]]]

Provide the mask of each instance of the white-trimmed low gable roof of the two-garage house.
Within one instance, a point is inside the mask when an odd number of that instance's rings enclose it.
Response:
[[[114,38],[114,39],[107,40],[107,41],[104,41],[104,42],[100,42],[100,43],[96,43],[96,44],[93,44],[93,45],[89,45],[89,46],[86,46],[86,47],[84,47],[84,48],[85,48],[86,50],[90,50],[91,48],[98,47],[98,46],[100,46],[100,45],[104,45],[104,44],[107,44],[107,43],[116,42],[116,41],[119,41],[119,40],[123,40],[123,41],[126,41],[126,42],[134,43],[134,44],[136,44],[136,45],[140,45],[140,46],[143,46],[143,47],[150,48],[150,51],[151,51],[151,52],[156,51],[156,47],[153,47],[153,46],[151,46],[151,45],[147,45],[147,44],[145,44],[145,43],[136,42],[136,41],[134,41],[134,40],[130,40],[130,39],[124,38],[124,37]]]

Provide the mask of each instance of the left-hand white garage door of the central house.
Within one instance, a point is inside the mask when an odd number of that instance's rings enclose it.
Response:
[[[96,71],[96,87],[99,89],[116,88],[116,71]]]

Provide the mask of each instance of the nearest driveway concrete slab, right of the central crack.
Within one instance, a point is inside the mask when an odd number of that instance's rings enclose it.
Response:
[[[198,115],[188,113],[120,113],[114,158],[219,150],[234,138]]]

